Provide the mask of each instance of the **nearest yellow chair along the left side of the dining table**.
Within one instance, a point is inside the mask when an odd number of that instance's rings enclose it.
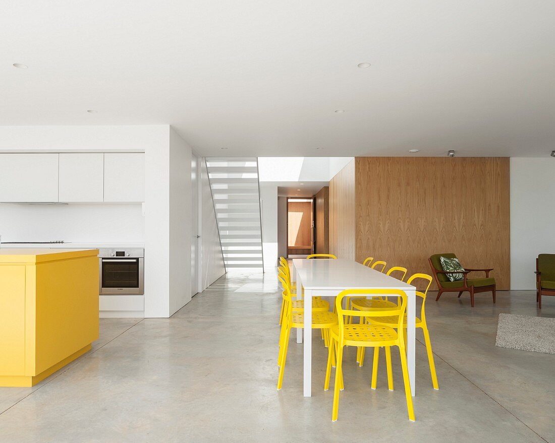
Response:
[[[285,363],[287,360],[287,345],[289,344],[289,336],[292,328],[303,328],[305,324],[304,312],[295,312],[292,308],[292,297],[287,285],[286,280],[279,276],[280,282],[283,284],[285,290],[283,298],[285,299],[285,315],[284,321],[281,324],[280,343],[279,343],[279,375],[278,375],[278,390],[281,389],[283,383],[283,374],[285,371]],[[312,329],[327,329],[337,324],[337,315],[332,312],[312,312]],[[310,334],[311,331],[305,332]]]

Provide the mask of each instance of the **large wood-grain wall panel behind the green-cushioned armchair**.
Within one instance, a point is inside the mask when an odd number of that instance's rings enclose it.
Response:
[[[431,254],[453,252],[509,289],[509,239],[508,158],[356,158],[357,261],[430,274]]]

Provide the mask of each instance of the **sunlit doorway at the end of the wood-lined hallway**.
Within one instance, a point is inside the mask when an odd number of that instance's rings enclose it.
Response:
[[[304,258],[314,253],[314,201],[287,198],[287,256]]]

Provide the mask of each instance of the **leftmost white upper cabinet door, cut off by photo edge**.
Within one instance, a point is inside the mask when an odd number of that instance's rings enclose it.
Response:
[[[0,202],[58,201],[58,154],[0,154]]]

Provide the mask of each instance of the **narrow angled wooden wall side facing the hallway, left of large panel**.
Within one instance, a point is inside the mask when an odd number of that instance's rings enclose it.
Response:
[[[330,253],[355,259],[355,160],[330,181]]]

